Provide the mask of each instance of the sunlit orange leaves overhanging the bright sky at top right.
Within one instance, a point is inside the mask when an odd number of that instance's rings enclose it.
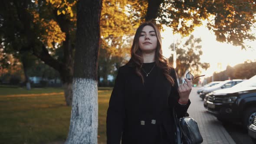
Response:
[[[255,13],[255,0],[164,0],[157,20],[183,36],[206,21],[218,41],[246,48],[245,42],[255,39],[250,33]]]

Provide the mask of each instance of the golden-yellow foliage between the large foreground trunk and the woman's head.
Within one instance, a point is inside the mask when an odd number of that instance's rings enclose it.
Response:
[[[112,56],[125,57],[129,55],[131,42],[125,37],[132,37],[141,24],[141,17],[146,14],[148,3],[137,0],[103,0],[101,12],[102,48]],[[140,15],[141,14],[141,15]],[[134,16],[138,15],[138,16]],[[109,41],[111,45],[109,46]]]

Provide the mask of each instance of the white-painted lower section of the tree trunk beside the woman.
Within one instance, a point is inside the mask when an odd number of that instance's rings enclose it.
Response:
[[[74,78],[69,134],[65,144],[97,144],[97,135],[97,81]]]

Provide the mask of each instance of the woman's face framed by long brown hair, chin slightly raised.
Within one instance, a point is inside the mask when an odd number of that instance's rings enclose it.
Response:
[[[153,52],[157,48],[158,39],[152,26],[144,26],[139,37],[142,52]]]

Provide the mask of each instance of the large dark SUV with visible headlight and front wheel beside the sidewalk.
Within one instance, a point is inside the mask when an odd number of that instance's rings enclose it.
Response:
[[[203,105],[219,121],[241,122],[247,128],[256,116],[256,75],[232,88],[208,93]]]

